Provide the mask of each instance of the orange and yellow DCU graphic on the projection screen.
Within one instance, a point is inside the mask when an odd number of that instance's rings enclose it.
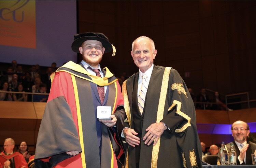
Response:
[[[36,48],[35,1],[0,2],[0,45]]]

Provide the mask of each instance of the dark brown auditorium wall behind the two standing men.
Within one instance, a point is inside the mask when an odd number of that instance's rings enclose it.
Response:
[[[116,46],[101,64],[117,76],[138,71],[131,43],[145,35],[155,41],[154,63],[176,69],[195,93],[256,98],[256,1],[78,1],[78,16],[79,32],[102,32]]]

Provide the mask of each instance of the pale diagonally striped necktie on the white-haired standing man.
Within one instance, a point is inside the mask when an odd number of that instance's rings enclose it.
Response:
[[[139,109],[140,109],[141,114],[143,112],[145,99],[146,99],[146,94],[147,94],[147,87],[148,87],[146,78],[147,78],[147,75],[144,74],[142,76],[142,85],[141,85],[141,89],[140,89],[139,96],[138,96],[138,105],[139,105]]]

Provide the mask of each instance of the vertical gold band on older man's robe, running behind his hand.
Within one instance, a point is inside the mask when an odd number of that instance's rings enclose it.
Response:
[[[163,119],[163,111],[165,108],[165,100],[166,100],[166,95],[167,95],[167,90],[168,90],[170,71],[171,71],[171,68],[166,67],[165,72],[163,73],[162,86],[161,86],[161,92],[160,92],[160,98],[159,98],[157,116],[156,116],[156,123],[159,123],[160,120]],[[157,167],[157,159],[158,159],[158,153],[159,153],[159,148],[160,148],[160,140],[161,140],[161,137],[159,137],[156,145],[153,147],[153,150],[152,150],[151,168]]]

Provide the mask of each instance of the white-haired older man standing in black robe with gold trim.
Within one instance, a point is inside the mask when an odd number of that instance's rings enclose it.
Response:
[[[132,43],[139,72],[123,83],[126,114],[115,114],[119,135],[129,145],[125,167],[201,167],[193,100],[176,70],[153,64],[156,53],[148,37]]]

